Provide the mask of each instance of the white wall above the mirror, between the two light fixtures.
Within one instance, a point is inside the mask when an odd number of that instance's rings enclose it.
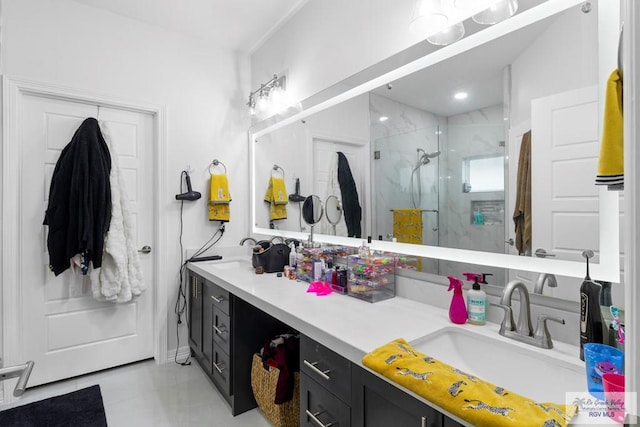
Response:
[[[409,32],[414,0],[308,2],[251,56],[251,87],[287,73],[301,101],[417,43]]]

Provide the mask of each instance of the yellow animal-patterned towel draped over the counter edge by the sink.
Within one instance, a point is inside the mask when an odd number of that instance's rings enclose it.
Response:
[[[537,403],[497,387],[401,338],[366,354],[362,363],[474,426],[566,426],[577,412],[575,405]]]

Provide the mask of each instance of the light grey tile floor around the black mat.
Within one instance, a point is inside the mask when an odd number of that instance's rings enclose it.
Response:
[[[109,427],[269,427],[258,409],[233,417],[200,367],[144,361],[27,389],[10,406],[99,384]]]

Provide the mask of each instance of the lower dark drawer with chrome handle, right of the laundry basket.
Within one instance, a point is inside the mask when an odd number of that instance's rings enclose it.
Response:
[[[300,426],[349,427],[351,409],[308,375],[300,374]]]

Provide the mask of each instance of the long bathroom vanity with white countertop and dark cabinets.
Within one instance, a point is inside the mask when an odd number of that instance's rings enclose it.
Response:
[[[505,348],[514,346],[531,358],[539,353],[542,360],[557,360],[563,369],[583,369],[576,348],[561,342],[553,350],[511,344],[498,335],[495,324],[452,326],[446,310],[400,297],[376,304],[335,293],[318,297],[306,292],[306,282],[254,274],[250,262],[244,259],[189,264],[188,275],[189,312],[193,315],[190,346],[234,415],[256,406],[250,384],[253,353],[273,335],[289,328],[301,336],[302,426],[470,425],[363,367],[361,360],[366,353],[400,337],[420,344],[453,327]],[[487,356],[491,364],[499,364],[499,370],[509,371],[504,358]],[[516,368],[510,376],[518,376]],[[563,394],[559,393],[573,391],[575,383],[563,388],[560,380],[553,387],[556,394],[530,386],[526,393],[520,393],[562,403]]]

